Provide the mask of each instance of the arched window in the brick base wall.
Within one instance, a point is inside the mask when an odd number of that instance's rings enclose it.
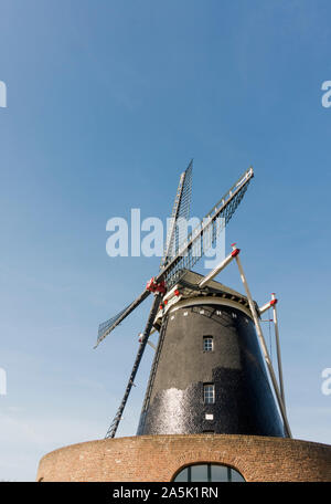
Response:
[[[175,482],[239,482],[245,481],[238,471],[227,465],[196,464],[182,469],[173,479]]]

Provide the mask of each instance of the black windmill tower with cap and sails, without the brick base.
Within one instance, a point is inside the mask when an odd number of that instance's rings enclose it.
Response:
[[[278,355],[278,382],[260,329],[260,314],[244,275],[239,250],[205,277],[192,271],[228,223],[254,177],[246,170],[201,224],[183,235],[189,218],[192,161],[181,175],[159,273],[137,300],[100,324],[96,346],[149,295],[152,306],[131,375],[106,438],[114,438],[151,332],[159,340],[137,435],[250,434],[291,437]],[[215,282],[232,260],[241,271],[246,296]],[[274,300],[269,307],[276,303]],[[276,335],[278,337],[278,334]]]

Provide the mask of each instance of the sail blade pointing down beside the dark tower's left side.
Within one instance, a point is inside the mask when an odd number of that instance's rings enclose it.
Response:
[[[150,313],[149,313],[149,316],[148,316],[148,321],[147,321],[147,324],[146,324],[146,327],[145,327],[145,330],[143,330],[143,334],[142,334],[141,343],[140,343],[139,348],[138,348],[137,357],[136,357],[136,360],[135,360],[135,364],[134,364],[134,367],[132,367],[132,370],[131,370],[131,374],[130,374],[130,377],[129,377],[129,381],[128,381],[128,385],[127,385],[127,388],[126,388],[126,391],[125,391],[125,395],[124,395],[121,403],[119,405],[119,408],[118,408],[118,410],[117,410],[117,412],[116,412],[116,414],[114,417],[114,420],[113,420],[113,422],[111,422],[111,424],[110,424],[110,427],[109,427],[109,429],[108,429],[108,431],[106,433],[106,439],[107,438],[114,438],[115,434],[116,434],[116,431],[117,431],[118,424],[120,422],[124,409],[125,409],[127,400],[129,398],[129,393],[130,393],[131,388],[132,388],[132,386],[135,384],[135,378],[136,378],[136,375],[137,375],[137,371],[138,371],[138,368],[139,368],[139,364],[141,361],[141,358],[142,358],[142,355],[143,355],[143,351],[145,351],[145,348],[146,348],[146,344],[148,342],[148,338],[149,338],[149,335],[150,335],[150,332],[151,332],[151,328],[152,328],[157,312],[159,309],[159,305],[160,305],[161,298],[162,298],[162,294],[157,294],[156,297],[154,297],[154,301],[153,301],[152,307],[150,309]]]

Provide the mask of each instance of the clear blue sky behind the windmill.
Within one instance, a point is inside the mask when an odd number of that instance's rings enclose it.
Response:
[[[279,298],[293,437],[331,443],[330,15],[323,0],[0,0],[0,480],[104,438],[149,301],[94,350],[97,327],[160,262],[110,258],[106,223],[169,217],[191,158],[200,218],[254,167],[226,246],[259,305]],[[243,292],[232,266],[217,280]],[[136,433],[152,354],[118,435]]]

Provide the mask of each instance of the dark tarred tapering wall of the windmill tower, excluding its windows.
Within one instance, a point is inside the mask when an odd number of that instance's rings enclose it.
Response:
[[[203,351],[207,335],[212,353]],[[214,405],[203,402],[204,382],[215,384]],[[284,437],[253,321],[228,306],[182,307],[164,321],[137,434],[211,430]]]

